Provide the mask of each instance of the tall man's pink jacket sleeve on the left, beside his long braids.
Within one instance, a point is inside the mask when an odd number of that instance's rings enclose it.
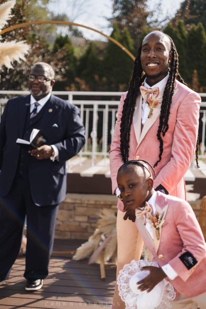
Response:
[[[110,160],[110,173],[111,173],[111,183],[112,183],[112,193],[115,193],[116,188],[118,187],[116,176],[118,169],[124,163],[122,160],[121,152],[120,152],[120,123],[122,117],[122,108],[124,104],[124,99],[126,94],[121,95],[120,105],[118,109],[118,116],[115,125],[115,131],[113,135],[113,140],[111,142],[111,148],[109,151],[109,160]]]

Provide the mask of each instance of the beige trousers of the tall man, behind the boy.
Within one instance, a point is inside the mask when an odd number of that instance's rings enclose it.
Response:
[[[135,222],[123,219],[125,213],[118,210],[117,212],[117,276],[125,264],[132,260],[140,260],[143,240],[138,234]],[[125,303],[121,300],[118,292],[118,286],[115,287],[113,298],[113,309],[124,309]]]

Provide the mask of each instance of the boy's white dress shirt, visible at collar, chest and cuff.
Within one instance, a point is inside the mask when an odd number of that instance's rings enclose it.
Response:
[[[150,199],[148,201],[148,204],[152,207],[152,214],[156,213],[156,206],[155,206],[156,197],[157,197],[157,192],[154,191],[153,195],[150,197]],[[153,228],[151,227],[149,222],[146,222],[145,227],[146,227],[149,235],[153,239]],[[163,270],[164,273],[166,273],[167,277],[170,278],[170,280],[174,280],[178,276],[178,274],[170,266],[170,264],[166,264],[166,265],[162,266],[162,270]]]

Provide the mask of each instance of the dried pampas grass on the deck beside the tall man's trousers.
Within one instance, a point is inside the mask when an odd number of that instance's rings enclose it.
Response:
[[[90,263],[99,263],[99,254],[104,249],[104,262],[112,259],[116,262],[117,257],[117,236],[116,236],[116,214],[114,211],[104,209],[101,218],[98,220],[98,227],[86,243],[77,248],[73,260],[82,260],[90,256]]]

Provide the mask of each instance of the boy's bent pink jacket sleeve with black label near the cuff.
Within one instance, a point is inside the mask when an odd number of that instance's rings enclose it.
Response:
[[[206,255],[205,241],[195,214],[186,201],[181,201],[181,205],[173,207],[173,218],[183,241],[183,249],[169,261],[169,264],[178,276],[186,281],[193,271],[189,271],[179,257],[185,252],[189,252],[197,260],[196,268]]]

